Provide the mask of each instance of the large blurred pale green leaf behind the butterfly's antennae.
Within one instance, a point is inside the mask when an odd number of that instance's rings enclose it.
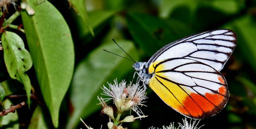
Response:
[[[117,40],[116,42],[134,60],[138,59],[138,54],[132,42],[126,40]],[[132,62],[114,54],[106,53],[103,49],[127,57],[111,40],[93,50],[78,64],[70,87],[70,102],[73,112],[68,121],[67,129],[75,128],[80,122],[80,117],[88,117],[101,108],[96,104],[99,103],[97,95],[102,93],[100,88],[102,85],[107,85],[107,81],[112,82],[115,78],[118,78],[118,80],[124,79],[121,77],[132,70]]]

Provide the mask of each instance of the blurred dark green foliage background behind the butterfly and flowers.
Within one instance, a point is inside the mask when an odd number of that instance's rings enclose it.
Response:
[[[100,128],[102,124],[102,128],[107,128],[109,119],[101,114],[101,106],[96,105],[99,103],[96,96],[102,92],[100,87],[115,78],[130,81],[133,75],[129,74],[133,70],[132,62],[103,51],[126,56],[112,39],[132,58],[146,62],[172,41],[219,28],[234,30],[238,37],[237,47],[221,71],[228,82],[230,98],[220,113],[201,120],[199,125],[204,124],[202,128],[256,128],[255,0],[86,0],[94,36],[68,1],[50,2],[64,16],[75,46],[75,71],[62,102],[59,128],[86,128],[80,117],[91,127]],[[21,36],[24,39],[25,35]],[[0,60],[0,67],[3,65]],[[28,72],[28,75],[34,74],[33,70]],[[0,81],[8,79],[7,75],[7,71],[1,71]],[[37,83],[36,78],[31,81]],[[37,87],[35,90],[40,91]],[[123,127],[162,127],[170,122],[178,127],[177,123],[182,122],[184,116],[166,105],[150,88],[147,92],[147,107],[141,109],[149,117],[125,123]],[[34,108],[31,106],[32,110]],[[24,128],[32,116],[32,111],[29,112],[30,115],[19,114]],[[52,127],[51,122],[49,127]]]

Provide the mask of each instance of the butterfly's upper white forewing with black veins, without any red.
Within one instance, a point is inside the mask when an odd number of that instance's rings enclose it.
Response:
[[[147,66],[168,58],[189,58],[220,71],[232,54],[236,42],[236,33],[228,29],[190,35],[165,45],[150,58]]]

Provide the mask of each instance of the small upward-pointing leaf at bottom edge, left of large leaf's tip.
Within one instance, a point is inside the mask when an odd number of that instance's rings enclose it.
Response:
[[[45,115],[47,113],[38,105],[30,119],[28,129],[49,129],[49,119]]]

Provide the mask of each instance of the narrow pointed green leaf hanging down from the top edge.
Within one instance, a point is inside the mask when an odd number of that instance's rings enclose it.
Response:
[[[91,24],[87,16],[85,0],[68,0],[68,1],[70,3],[70,6],[78,13],[79,17],[83,21],[83,24],[90,31],[91,35],[94,36],[94,32],[91,28]]]

